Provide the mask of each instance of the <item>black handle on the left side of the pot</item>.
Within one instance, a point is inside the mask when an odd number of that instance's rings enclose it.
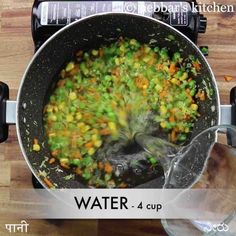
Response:
[[[0,143],[8,138],[9,125],[6,123],[6,107],[9,99],[9,87],[0,82]]]

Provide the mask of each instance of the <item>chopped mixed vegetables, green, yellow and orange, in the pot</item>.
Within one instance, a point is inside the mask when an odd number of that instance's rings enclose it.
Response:
[[[109,162],[98,161],[97,150],[119,140],[121,131],[132,138],[130,119],[140,114],[152,114],[152,124],[171,142],[184,142],[199,116],[195,100],[205,99],[194,80],[200,69],[192,55],[183,59],[135,39],[77,52],[44,110],[50,161],[58,159],[89,185],[125,187]]]

